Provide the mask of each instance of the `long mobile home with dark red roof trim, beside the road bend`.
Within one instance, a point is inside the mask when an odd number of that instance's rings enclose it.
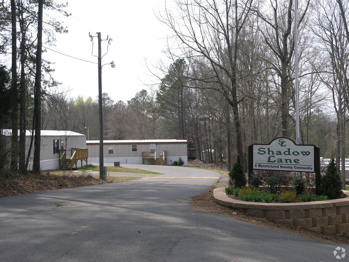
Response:
[[[99,161],[99,141],[86,141],[89,161]],[[105,163],[172,165],[179,157],[188,165],[187,140],[104,140]]]

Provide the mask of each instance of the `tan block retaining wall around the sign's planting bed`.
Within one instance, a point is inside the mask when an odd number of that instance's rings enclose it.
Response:
[[[349,191],[345,198],[303,203],[254,203],[227,196],[224,187],[213,190],[215,202],[273,222],[308,228],[324,234],[340,234],[349,238]]]

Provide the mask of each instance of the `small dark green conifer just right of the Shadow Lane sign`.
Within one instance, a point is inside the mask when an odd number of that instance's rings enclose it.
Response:
[[[327,166],[326,174],[321,177],[321,185],[319,187],[319,194],[328,196],[329,199],[339,198],[342,192],[342,180],[337,172],[334,158]]]

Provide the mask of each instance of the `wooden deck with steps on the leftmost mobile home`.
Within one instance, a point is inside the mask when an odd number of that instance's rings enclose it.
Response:
[[[66,150],[59,150],[59,167],[60,169],[73,169],[77,167],[77,161],[81,161],[81,166],[83,161],[86,161],[87,165],[88,159],[88,148],[72,148],[71,149],[71,157],[67,157]]]

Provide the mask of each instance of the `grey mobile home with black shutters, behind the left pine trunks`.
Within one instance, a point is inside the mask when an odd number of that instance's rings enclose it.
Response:
[[[11,136],[12,130],[3,130],[5,136]],[[86,135],[72,131],[57,131],[57,130],[41,130],[41,148],[40,148],[40,169],[59,169],[60,168],[60,150],[66,149],[67,158],[72,156],[72,151],[76,149],[86,148]],[[27,130],[25,134],[26,149],[25,155],[28,154],[31,131]],[[19,135],[18,135],[19,139]],[[34,148],[34,147],[33,147]],[[28,168],[32,168],[33,151],[29,160]],[[87,150],[86,150],[87,151]],[[87,161],[88,155],[86,156]],[[85,159],[85,157],[84,157]],[[81,166],[82,161],[76,162],[77,166]],[[71,167],[71,166],[69,166]],[[70,168],[69,168],[70,169]]]

